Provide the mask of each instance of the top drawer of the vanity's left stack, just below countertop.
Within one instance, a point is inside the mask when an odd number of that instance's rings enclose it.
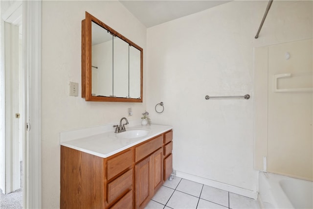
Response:
[[[129,150],[108,161],[108,180],[133,164],[133,150]]]

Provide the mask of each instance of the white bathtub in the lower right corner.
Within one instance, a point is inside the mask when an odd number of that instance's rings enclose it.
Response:
[[[313,209],[313,182],[259,172],[258,198],[264,209]]]

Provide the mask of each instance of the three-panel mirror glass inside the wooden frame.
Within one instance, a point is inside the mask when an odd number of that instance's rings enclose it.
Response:
[[[92,96],[140,98],[141,51],[91,22]]]

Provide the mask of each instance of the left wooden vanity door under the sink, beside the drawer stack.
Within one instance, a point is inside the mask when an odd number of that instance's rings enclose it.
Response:
[[[135,205],[136,208],[143,208],[152,197],[151,182],[151,157],[135,165]]]

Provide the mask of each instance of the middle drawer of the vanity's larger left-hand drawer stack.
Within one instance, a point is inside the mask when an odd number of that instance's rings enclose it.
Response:
[[[110,184],[108,184],[108,204],[110,205],[116,198],[123,193],[132,190],[133,187],[133,169],[127,171]]]

